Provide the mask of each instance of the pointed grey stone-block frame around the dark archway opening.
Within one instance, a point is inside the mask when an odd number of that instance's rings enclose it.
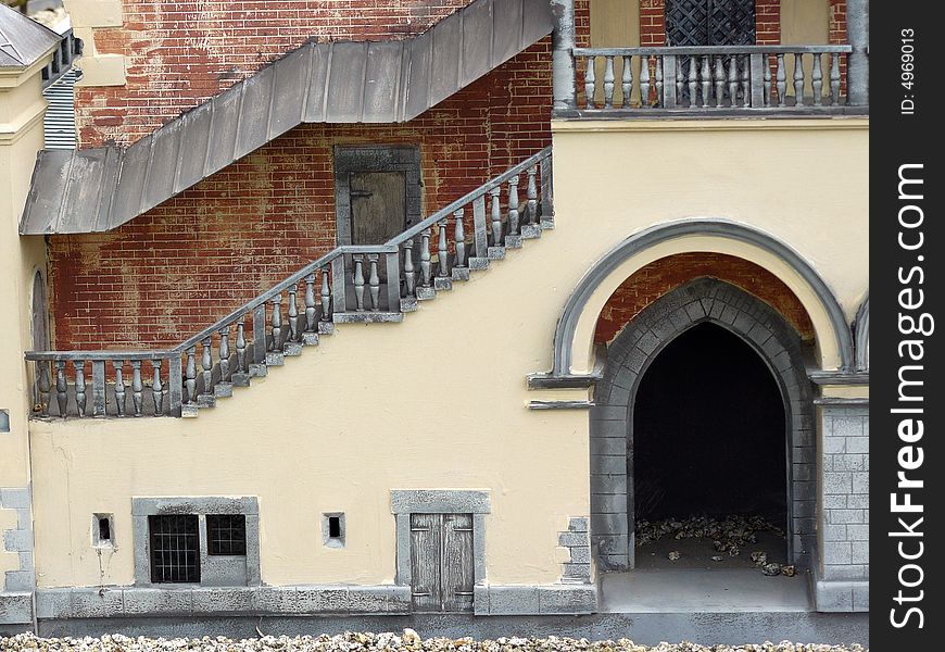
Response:
[[[658,393],[653,388],[647,389],[651,380],[657,383],[660,375],[666,378],[675,374],[679,383],[680,366],[686,375],[693,375],[693,367],[697,365],[691,362],[686,364],[685,360],[686,356],[693,360],[693,344],[697,350],[711,347],[718,352],[728,352],[728,355],[715,360],[717,376],[704,380],[717,387],[711,391],[708,388],[700,389],[697,385],[692,388],[698,393],[696,401],[706,410],[714,405],[717,410],[726,411],[724,415],[715,417],[722,424],[738,423],[738,412],[744,412],[747,402],[756,403],[759,411],[753,423],[756,426],[764,424],[766,430],[764,450],[746,448],[743,432],[734,438],[741,441],[741,446],[732,444],[724,454],[714,450],[716,464],[724,463],[738,469],[739,465],[756,464],[764,457],[766,464],[757,473],[754,468],[744,473],[755,478],[772,473],[779,475],[777,482],[771,479],[770,485],[765,485],[764,492],[770,494],[767,499],[770,504],[766,510],[781,514],[789,561],[806,561],[816,539],[816,492],[811,481],[815,477],[814,404],[804,362],[809,347],[769,304],[728,283],[703,277],[678,286],[650,303],[627,324],[607,349],[604,375],[596,384],[595,405],[591,410],[591,536],[597,548],[598,567],[618,570],[634,566],[633,526],[637,519],[638,479],[634,467],[638,446],[635,410],[640,400],[646,400],[647,394],[652,398]],[[675,352],[676,349],[679,351]],[[697,351],[695,354],[711,356],[713,352]],[[666,358],[660,360],[664,353]],[[732,355],[738,355],[741,362],[734,364]],[[673,363],[677,358],[682,360]],[[672,373],[659,371],[665,362],[668,362]],[[675,371],[672,367],[676,367]],[[651,369],[654,371],[652,379],[647,378]],[[758,378],[765,381],[759,385]],[[754,380],[739,390],[740,384],[748,379]],[[728,389],[728,400],[723,405],[719,404],[718,397],[711,397],[713,391],[719,388],[722,397],[727,396],[724,389]],[[749,393],[739,397],[739,391]],[[739,399],[742,406],[739,406]],[[658,398],[655,400],[655,404],[647,402],[644,416],[641,417],[651,419],[651,426],[655,417],[645,416],[647,410],[680,412],[679,406],[671,402],[667,405],[665,401],[660,403]],[[736,414],[731,414],[732,411],[736,411]],[[672,418],[676,417],[686,418],[684,413],[672,415]],[[689,418],[694,418],[692,411]],[[707,427],[705,424],[703,426]],[[779,427],[780,437],[776,431]],[[711,440],[711,437],[708,439]],[[652,442],[653,439],[642,432],[639,441],[643,447],[640,452],[647,454],[647,441]],[[721,446],[717,432],[714,444],[716,449]],[[709,449],[711,446],[708,444]],[[670,451],[673,456],[678,456],[678,453],[677,450]],[[777,453],[774,459],[771,456],[773,453]],[[670,468],[665,473],[679,473],[679,469]],[[641,471],[640,480],[647,481],[645,472]],[[751,494],[754,501],[754,496],[759,493],[754,489],[731,491],[727,497],[715,496],[711,500],[707,498],[711,492],[705,492],[704,496],[698,491],[702,485],[713,481],[719,481],[719,478],[713,475],[711,469],[701,477],[680,478],[679,490],[686,493],[677,496],[673,498],[676,503],[668,504],[673,511],[681,509],[681,504],[689,506],[689,512],[698,512],[700,509],[708,511],[711,501],[728,500],[728,507],[731,507],[731,501],[742,500],[740,505],[734,505],[742,509],[734,511],[756,509],[745,500]],[[779,491],[783,496],[783,503],[776,496]]]

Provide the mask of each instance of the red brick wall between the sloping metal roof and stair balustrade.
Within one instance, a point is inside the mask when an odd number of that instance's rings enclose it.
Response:
[[[550,145],[551,38],[401,125],[303,125],[105,234],[49,239],[56,348],[176,343],[335,247],[331,147],[420,147],[425,214]]]

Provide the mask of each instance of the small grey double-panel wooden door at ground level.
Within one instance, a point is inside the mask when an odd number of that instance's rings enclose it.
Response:
[[[472,611],[471,514],[411,514],[411,577],[414,611]]]

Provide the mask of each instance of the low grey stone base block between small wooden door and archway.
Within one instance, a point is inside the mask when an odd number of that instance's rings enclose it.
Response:
[[[477,616],[592,614],[597,587],[591,584],[481,586],[472,597]]]

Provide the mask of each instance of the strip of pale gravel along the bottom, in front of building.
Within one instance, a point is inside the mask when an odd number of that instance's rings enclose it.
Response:
[[[700,645],[659,643],[638,645],[628,639],[588,641],[549,637],[546,639],[500,638],[476,641],[471,638],[420,639],[412,629],[402,634],[348,632],[340,636],[264,636],[240,641],[227,638],[164,639],[104,636],[102,638],[38,638],[22,634],[0,638],[0,652],[865,652],[862,645],[764,642],[745,645]]]

